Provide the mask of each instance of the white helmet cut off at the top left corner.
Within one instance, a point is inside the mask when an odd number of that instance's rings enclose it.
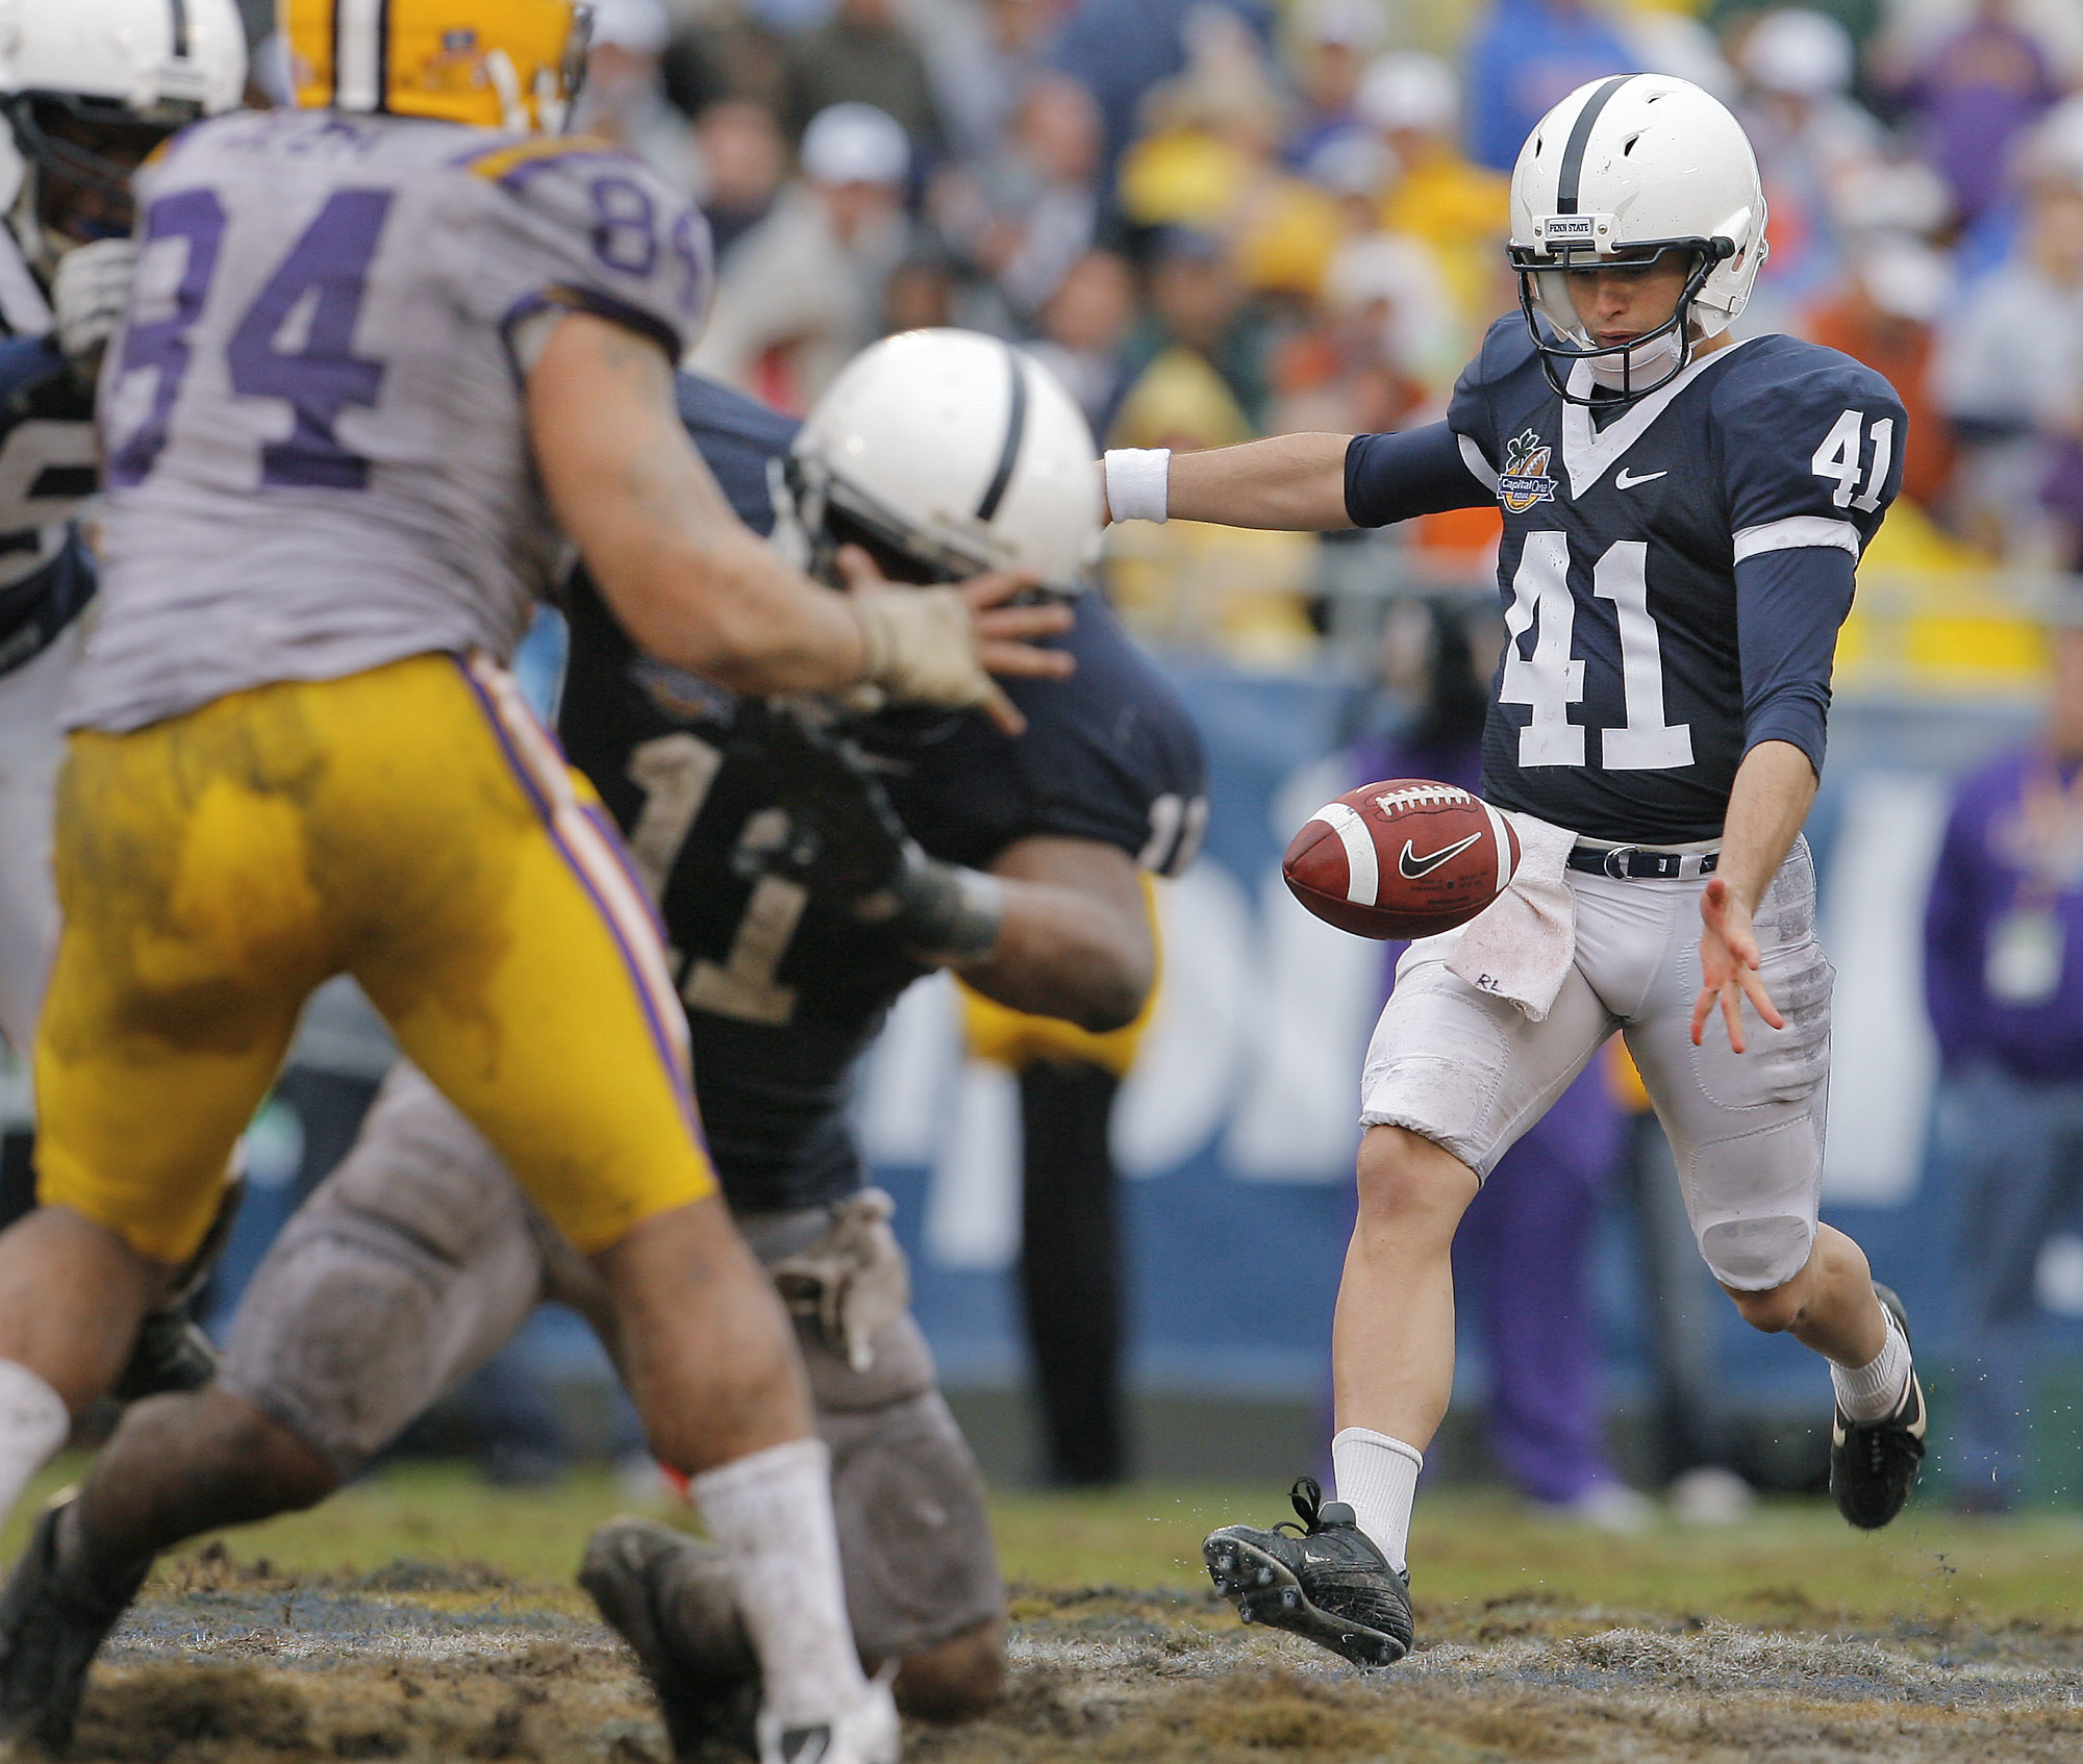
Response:
[[[246,92],[246,27],[235,0],[0,0],[0,206],[31,267],[46,273],[81,240],[52,223],[46,181],[106,196],[127,212],[129,167],[92,133],[135,144],[219,110]],[[127,221],[110,231],[129,231]]]

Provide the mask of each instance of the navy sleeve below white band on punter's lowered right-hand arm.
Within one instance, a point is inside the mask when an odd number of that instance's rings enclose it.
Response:
[[[1791,741],[1823,775],[1837,627],[1852,610],[1852,554],[1835,546],[1760,552],[1735,566],[1743,752]]]

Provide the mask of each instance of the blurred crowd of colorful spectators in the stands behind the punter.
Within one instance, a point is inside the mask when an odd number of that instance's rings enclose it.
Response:
[[[1587,79],[1737,106],[1771,202],[1746,331],[1910,410],[1887,558],[2083,566],[2075,0],[600,0],[585,125],[702,202],[694,364],[802,410],[914,325],[1031,348],[1112,446],[1433,421],[1504,273],[1508,173]],[[1383,548],[1473,579],[1485,512]],[[1300,535],[1116,535],[1131,621],[1312,650],[1362,562]]]

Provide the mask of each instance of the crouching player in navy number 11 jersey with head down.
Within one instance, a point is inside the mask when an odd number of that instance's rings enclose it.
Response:
[[[1081,585],[1098,537],[1089,431],[1004,344],[894,337],[800,431],[708,381],[681,377],[679,392],[737,510],[771,519],[773,467],[779,544],[833,585],[852,564],[844,546],[892,579],[1008,562],[1062,594]],[[1077,671],[1014,683],[1021,739],[975,712],[887,710],[844,725],[852,756],[792,710],[644,658],[583,577],[571,625],[560,733],[660,898],[717,1170],[798,1312],[854,1637],[871,1662],[902,1662],[906,1710],[973,1712],[1002,1674],[1004,1593],[887,1202],[862,1191],[850,1075],[892,1000],[933,966],[1023,1010],[1131,1020],[1154,971],[1139,871],[1191,856],[1198,739],[1096,602],[1064,639]],[[8,1608],[71,1637],[65,1695],[154,1552],[321,1500],[544,1297],[577,1304],[619,1345],[585,1264],[492,1145],[400,1066],[262,1262],[219,1383],[133,1408],[60,1510],[52,1556],[17,1574]],[[585,1585],[658,1687],[683,1756],[714,1733],[742,1737],[758,1699],[727,1566],[714,1545],[635,1520],[587,1552]]]

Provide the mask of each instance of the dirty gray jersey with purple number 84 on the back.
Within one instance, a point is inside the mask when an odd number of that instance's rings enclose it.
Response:
[[[579,308],[679,358],[710,287],[700,212],[598,142],[325,110],[200,123],[137,194],[67,725],[510,656],[564,564],[512,329]]]

